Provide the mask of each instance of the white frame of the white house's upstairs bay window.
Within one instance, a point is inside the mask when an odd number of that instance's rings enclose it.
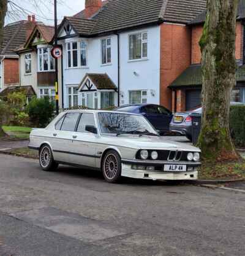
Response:
[[[77,43],[77,49],[73,49],[74,43]],[[85,43],[86,45],[86,65],[81,65],[81,51],[83,50],[81,48],[81,43]],[[68,45],[70,45],[70,50],[68,50]],[[77,51],[77,66],[74,67],[73,63],[73,52]],[[68,53],[70,52],[70,67],[69,67],[69,61],[68,61]],[[88,68],[88,42],[82,40],[82,41],[70,41],[66,43],[66,66],[67,69],[74,69],[74,68]]]

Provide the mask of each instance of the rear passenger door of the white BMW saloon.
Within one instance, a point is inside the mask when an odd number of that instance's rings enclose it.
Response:
[[[77,126],[79,117],[80,113],[70,112],[56,123],[52,145],[53,155],[56,161],[70,163],[70,153],[73,151],[72,135]]]

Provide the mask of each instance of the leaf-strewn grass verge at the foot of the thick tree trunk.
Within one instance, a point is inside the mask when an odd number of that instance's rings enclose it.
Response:
[[[198,171],[199,179],[245,179],[245,161],[204,163]]]

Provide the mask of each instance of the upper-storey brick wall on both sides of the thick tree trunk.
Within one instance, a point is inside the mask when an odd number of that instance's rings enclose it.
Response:
[[[192,27],[192,64],[198,64],[202,59],[202,53],[199,46],[202,31],[203,25]],[[243,25],[241,25],[241,21],[236,23],[236,59],[243,59]]]

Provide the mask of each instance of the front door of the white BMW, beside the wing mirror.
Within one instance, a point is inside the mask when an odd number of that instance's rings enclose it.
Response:
[[[94,113],[84,112],[81,114],[76,131],[73,133],[72,139],[72,155],[71,161],[76,165],[89,167],[96,166],[97,147],[96,142],[98,134],[86,131],[86,126],[96,127]]]

